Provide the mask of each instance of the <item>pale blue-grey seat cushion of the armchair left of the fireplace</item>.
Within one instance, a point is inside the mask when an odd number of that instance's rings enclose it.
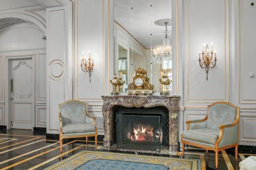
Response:
[[[94,132],[95,125],[88,123],[67,123],[62,127],[64,134],[69,133],[83,133],[83,132]]]

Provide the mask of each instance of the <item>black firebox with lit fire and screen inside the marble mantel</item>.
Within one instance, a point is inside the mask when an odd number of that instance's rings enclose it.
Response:
[[[169,146],[167,108],[115,106],[113,113],[113,145],[117,149],[160,151],[161,146]]]

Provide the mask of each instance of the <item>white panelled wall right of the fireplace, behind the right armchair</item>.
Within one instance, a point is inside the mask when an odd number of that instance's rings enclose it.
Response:
[[[253,1],[183,0],[184,128],[186,120],[203,118],[210,103],[229,101],[240,106],[240,145],[256,145],[256,78],[249,77],[256,73]],[[206,81],[198,51],[211,42],[217,64]]]

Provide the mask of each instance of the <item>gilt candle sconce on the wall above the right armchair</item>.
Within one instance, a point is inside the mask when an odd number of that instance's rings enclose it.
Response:
[[[206,80],[208,80],[208,73],[209,73],[209,69],[215,67],[216,65],[216,51],[213,52],[213,43],[211,43],[212,46],[212,50],[209,50],[209,46],[208,44],[204,47],[205,45],[203,44],[203,50],[202,52],[199,51],[199,65],[201,68],[205,69],[206,71]],[[202,54],[202,59],[203,61],[201,61],[201,54]],[[214,54],[214,60],[213,59],[213,54]]]

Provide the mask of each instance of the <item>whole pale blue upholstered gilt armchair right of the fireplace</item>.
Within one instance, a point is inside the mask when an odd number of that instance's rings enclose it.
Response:
[[[215,102],[207,107],[202,120],[186,121],[186,130],[181,136],[182,156],[184,144],[197,146],[215,152],[215,166],[218,168],[218,152],[235,147],[237,161],[239,140],[239,107],[228,102]]]

